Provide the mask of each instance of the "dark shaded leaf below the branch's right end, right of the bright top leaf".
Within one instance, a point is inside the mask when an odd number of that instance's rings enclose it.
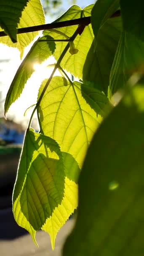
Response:
[[[96,2],[97,3],[97,2]],[[109,75],[121,34],[121,17],[108,19],[99,29],[83,66],[83,80],[94,83],[95,88],[107,95]]]

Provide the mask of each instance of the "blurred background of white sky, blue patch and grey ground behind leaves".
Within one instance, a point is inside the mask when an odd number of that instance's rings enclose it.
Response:
[[[83,8],[94,2],[93,0],[42,0],[46,23],[57,19],[71,5],[77,4]],[[31,45],[25,49],[23,59]],[[35,64],[35,73],[27,81],[20,98],[12,104],[8,111],[7,120],[5,120],[3,112],[6,93],[22,60],[16,48],[9,48],[0,44],[0,253],[2,256],[60,256],[61,247],[67,234],[72,229],[74,219],[67,221],[59,232],[54,251],[51,250],[48,234],[38,232],[37,241],[40,248],[36,248],[30,235],[20,228],[13,219],[11,201],[13,185],[16,179],[25,129],[32,113],[29,111],[24,117],[24,112],[32,104],[35,104],[40,82],[48,77],[53,69],[45,69],[43,66],[40,68]],[[53,62],[53,58],[48,60],[48,64]],[[33,118],[32,127],[38,130],[36,116]]]

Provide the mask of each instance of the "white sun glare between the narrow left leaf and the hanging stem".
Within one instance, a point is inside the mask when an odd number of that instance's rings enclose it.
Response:
[[[50,57],[47,60],[45,60],[42,64],[35,63],[33,65],[35,71],[27,80],[27,83],[25,84],[24,90],[22,91],[19,99],[17,99],[8,110],[8,117],[13,118],[17,122],[28,122],[28,119],[30,118],[33,110],[33,107],[29,107],[33,104],[36,104],[37,94],[40,85],[44,79],[50,77],[55,63],[55,59],[53,57]],[[54,76],[56,75],[61,76],[59,70],[56,70]],[[26,109],[28,109],[28,111],[26,112],[26,116],[24,117],[24,112],[26,111]],[[36,117],[36,114],[34,115],[34,117]]]

